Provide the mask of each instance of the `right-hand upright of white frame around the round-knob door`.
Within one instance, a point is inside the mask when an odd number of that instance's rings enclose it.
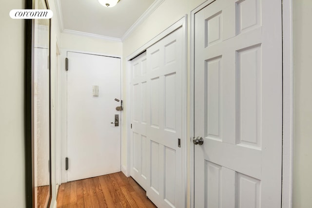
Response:
[[[283,16],[283,170],[282,208],[292,208],[293,39],[292,0],[282,0]]]

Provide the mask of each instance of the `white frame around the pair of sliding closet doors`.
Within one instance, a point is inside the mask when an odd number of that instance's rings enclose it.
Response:
[[[182,30],[182,60],[184,61],[181,64],[181,78],[182,78],[182,138],[181,138],[181,152],[182,152],[182,192],[184,193],[184,204],[187,203],[187,15],[183,18],[176,21],[170,27],[165,29],[163,32],[158,34],[156,37],[145,43],[143,46],[138,48],[135,52],[130,54],[126,57],[127,61],[127,89],[131,89],[131,60],[138,55],[142,54],[148,47],[155,44],[160,39],[166,37],[170,33],[174,32],[175,30],[181,28]],[[131,145],[130,145],[130,138],[131,138],[131,95],[127,93],[127,121],[126,121],[126,167],[122,166],[121,171],[127,176],[130,176],[130,169],[131,169]]]

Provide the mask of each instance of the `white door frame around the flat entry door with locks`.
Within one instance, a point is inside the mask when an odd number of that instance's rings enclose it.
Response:
[[[122,56],[113,55],[113,54],[104,54],[104,53],[97,53],[97,52],[90,52],[90,51],[80,51],[80,50],[72,50],[68,48],[61,48],[60,50],[60,70],[59,70],[59,89],[60,89],[60,183],[67,182],[67,172],[65,170],[65,158],[67,157],[67,71],[65,70],[65,58],[67,57],[67,52],[74,52],[74,53],[82,53],[82,54],[89,54],[89,55],[98,55],[104,57],[115,57],[120,58],[120,99],[123,98],[123,83],[122,83]],[[121,156],[122,156],[122,124],[123,124],[123,112],[120,112],[120,169],[122,170],[121,165]]]

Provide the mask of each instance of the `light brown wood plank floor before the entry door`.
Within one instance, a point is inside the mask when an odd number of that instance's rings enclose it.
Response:
[[[58,208],[156,208],[146,192],[122,172],[60,185]]]

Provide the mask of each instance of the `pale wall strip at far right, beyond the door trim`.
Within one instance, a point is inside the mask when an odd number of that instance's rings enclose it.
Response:
[[[293,0],[293,208],[312,206],[312,1]]]

